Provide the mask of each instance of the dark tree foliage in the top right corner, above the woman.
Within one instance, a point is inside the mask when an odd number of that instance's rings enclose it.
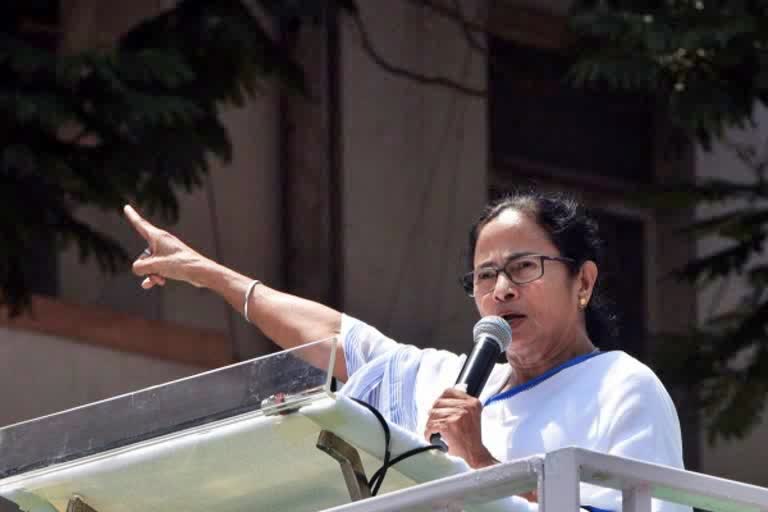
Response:
[[[705,149],[768,103],[764,0],[584,0],[571,21],[575,84],[652,92]]]

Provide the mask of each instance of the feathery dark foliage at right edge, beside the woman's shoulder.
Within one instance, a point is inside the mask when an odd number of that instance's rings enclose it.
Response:
[[[747,285],[737,304],[713,308],[689,333],[658,336],[657,358],[667,379],[700,390],[711,443],[748,434],[759,424],[768,396],[768,265],[759,258],[768,235],[768,155],[765,147],[729,146],[753,171],[752,182],[711,179],[655,194],[662,207],[714,204],[723,210],[686,229],[698,240],[722,243],[679,269],[678,279],[704,289],[738,276]]]

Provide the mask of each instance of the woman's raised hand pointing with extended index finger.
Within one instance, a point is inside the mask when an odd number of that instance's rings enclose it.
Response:
[[[193,275],[206,261],[204,256],[172,234],[151,224],[130,205],[126,205],[123,211],[136,232],[147,242],[148,252],[145,251],[133,262],[133,273],[145,276],[142,288],[163,286],[166,279],[202,286],[195,281]]]

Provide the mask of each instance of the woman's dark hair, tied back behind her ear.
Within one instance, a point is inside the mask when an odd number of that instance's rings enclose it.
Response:
[[[586,261],[600,267],[603,262],[603,241],[597,222],[573,196],[562,192],[536,190],[515,191],[490,203],[469,231],[469,270],[474,268],[475,247],[480,231],[505,210],[528,214],[549,235],[561,256],[573,259],[567,263],[571,275],[576,275]],[[598,274],[592,296],[585,311],[587,334],[597,344],[612,344],[618,337],[618,318],[611,302],[605,297]]]

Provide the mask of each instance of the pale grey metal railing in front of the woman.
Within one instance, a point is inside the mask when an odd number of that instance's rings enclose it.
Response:
[[[714,512],[768,511],[768,489],[581,448],[563,448],[415,485],[324,512],[387,512],[414,507],[456,511],[532,490],[541,512],[579,510],[579,483],[622,492],[624,512],[650,512],[651,498]]]

